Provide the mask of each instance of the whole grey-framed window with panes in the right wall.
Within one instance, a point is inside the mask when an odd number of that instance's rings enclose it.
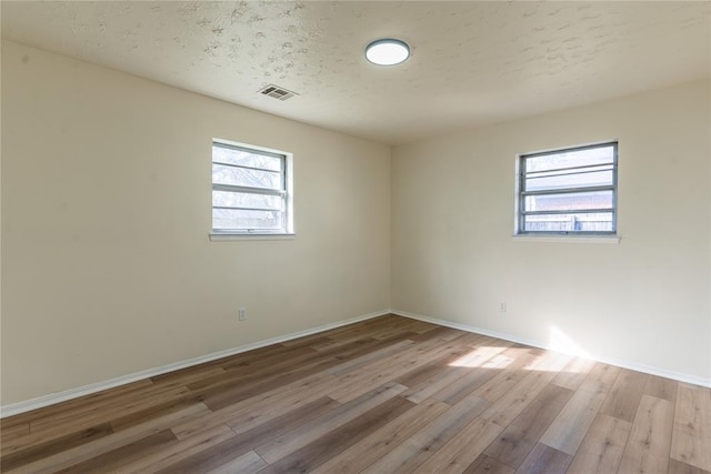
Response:
[[[519,158],[517,234],[614,234],[617,142]]]

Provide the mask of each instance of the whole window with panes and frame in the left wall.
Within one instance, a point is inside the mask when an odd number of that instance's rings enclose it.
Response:
[[[291,154],[212,142],[212,233],[292,232]]]

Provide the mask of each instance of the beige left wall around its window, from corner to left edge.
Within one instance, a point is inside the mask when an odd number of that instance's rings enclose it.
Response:
[[[209,241],[213,138],[293,153],[296,239]],[[389,307],[383,144],[3,41],[1,179],[3,405]]]

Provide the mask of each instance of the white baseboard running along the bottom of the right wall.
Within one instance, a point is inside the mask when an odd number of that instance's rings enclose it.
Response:
[[[432,324],[438,324],[441,326],[452,327],[455,330],[472,332],[477,334],[488,335],[490,337],[502,339],[504,341],[517,342],[519,344],[531,345],[533,347],[545,349],[548,351],[558,351],[558,349],[551,347],[549,344],[543,343],[541,341],[533,341],[525,337],[519,337],[513,334],[504,334],[497,331],[490,331],[482,327],[471,326],[468,324],[454,323],[451,321],[440,320],[437,317],[423,316],[421,314],[409,313],[407,311],[400,310],[391,310],[392,314],[397,314],[398,316],[410,317],[413,320],[424,321]],[[580,354],[572,354],[578,355]],[[639,364],[637,362],[622,361],[614,357],[600,356],[597,354],[588,354],[588,359],[591,359],[595,362],[601,362],[603,364],[614,365],[617,367],[629,369],[631,371],[642,372],[651,375],[659,375],[664,379],[675,380],[678,382],[690,383],[693,385],[704,386],[711,389],[711,379],[703,379],[691,374],[668,371],[665,369],[654,367],[651,365]]]

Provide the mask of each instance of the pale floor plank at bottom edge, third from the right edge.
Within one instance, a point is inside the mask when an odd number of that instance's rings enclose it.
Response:
[[[598,414],[578,448],[569,474],[608,474],[618,472],[632,423]]]

